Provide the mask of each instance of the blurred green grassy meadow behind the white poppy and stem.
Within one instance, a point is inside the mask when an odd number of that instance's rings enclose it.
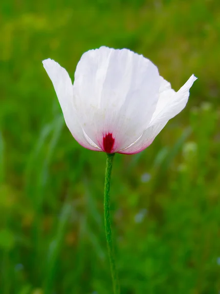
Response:
[[[102,45],[151,59],[184,111],[116,154],[111,209],[122,294],[220,293],[218,0],[0,1],[0,293],[111,294],[106,155],[81,147],[42,60],[70,76]]]

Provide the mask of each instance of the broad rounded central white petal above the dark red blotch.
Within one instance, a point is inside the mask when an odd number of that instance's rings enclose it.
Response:
[[[128,49],[101,47],[84,53],[73,95],[85,132],[101,148],[103,137],[111,133],[112,152],[128,147],[150,123],[159,85],[154,64]]]

